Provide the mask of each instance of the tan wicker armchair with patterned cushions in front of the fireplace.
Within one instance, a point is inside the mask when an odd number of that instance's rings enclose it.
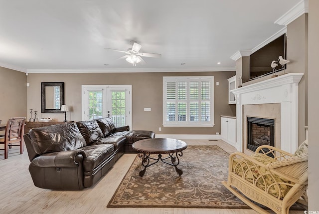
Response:
[[[295,154],[272,146],[260,146],[251,156],[235,152],[229,157],[228,181],[222,183],[259,213],[268,212],[251,201],[277,214],[288,214],[297,201],[307,206],[308,142]]]

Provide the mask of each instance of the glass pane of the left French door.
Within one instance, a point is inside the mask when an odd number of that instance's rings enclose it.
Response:
[[[94,120],[103,117],[102,91],[89,91],[89,119]]]

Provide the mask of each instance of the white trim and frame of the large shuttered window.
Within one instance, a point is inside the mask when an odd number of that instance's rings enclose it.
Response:
[[[202,121],[166,121],[166,82],[172,81],[184,81],[187,82],[189,86],[189,82],[193,80],[199,81],[208,81],[210,82],[210,121],[202,122]],[[189,92],[189,87],[187,87],[187,93]],[[198,99],[200,100],[200,99]],[[193,100],[189,100],[189,96],[187,96],[185,102],[187,102],[187,115],[189,114],[189,102]],[[176,102],[176,100],[175,100]],[[214,76],[163,76],[163,127],[213,127],[214,126]],[[199,115],[200,117],[200,115]]]

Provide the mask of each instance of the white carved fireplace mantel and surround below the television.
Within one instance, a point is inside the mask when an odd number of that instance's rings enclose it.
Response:
[[[232,90],[236,95],[237,142],[243,152],[243,106],[280,103],[280,147],[294,153],[298,148],[298,84],[304,73],[287,73]]]

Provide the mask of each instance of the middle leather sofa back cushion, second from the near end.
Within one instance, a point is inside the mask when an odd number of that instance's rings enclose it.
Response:
[[[95,120],[85,120],[76,122],[87,145],[91,145],[99,138],[104,137],[103,133]]]

